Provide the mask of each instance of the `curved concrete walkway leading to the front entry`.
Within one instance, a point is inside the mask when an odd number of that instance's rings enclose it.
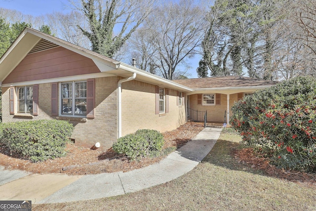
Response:
[[[210,152],[222,129],[206,127],[196,138],[157,164],[127,172],[84,176],[31,174],[0,168],[0,200],[32,204],[98,199],[139,191],[171,181],[192,170]]]

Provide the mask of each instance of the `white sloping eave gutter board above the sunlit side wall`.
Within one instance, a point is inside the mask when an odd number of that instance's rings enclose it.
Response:
[[[147,78],[149,78],[149,79],[153,79],[153,80],[157,81],[158,84],[159,84],[159,83],[168,84],[168,85],[174,86],[174,87],[176,87],[176,88],[184,89],[184,90],[189,91],[189,92],[194,90],[194,89],[189,88],[189,87],[187,87],[187,86],[185,86],[185,85],[177,84],[177,83],[175,83],[175,82],[172,82],[172,81],[170,81],[170,80],[164,79],[164,78],[159,77],[159,76],[157,76],[157,75],[154,75],[154,74],[152,74],[152,73],[148,73],[148,72],[146,72],[146,71],[144,71],[144,70],[135,68],[135,67],[130,66],[130,65],[128,65],[128,64],[124,64],[124,63],[122,63],[122,62],[119,64],[119,68],[121,68],[121,69],[123,69],[123,70],[127,70],[127,71],[132,72],[132,73],[136,73],[137,75],[145,76],[145,77],[147,77]]]

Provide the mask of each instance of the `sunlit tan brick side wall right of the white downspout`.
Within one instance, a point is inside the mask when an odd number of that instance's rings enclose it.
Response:
[[[155,87],[136,80],[122,84],[122,135],[137,129],[170,131],[186,122],[185,106],[177,106],[173,89],[169,89],[169,112],[156,114]]]

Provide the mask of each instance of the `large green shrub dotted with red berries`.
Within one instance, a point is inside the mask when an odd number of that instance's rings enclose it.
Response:
[[[316,172],[316,79],[298,77],[236,102],[230,123],[243,143],[279,168]]]

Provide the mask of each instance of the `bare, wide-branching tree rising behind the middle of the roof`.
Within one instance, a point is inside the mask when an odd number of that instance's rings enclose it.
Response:
[[[180,0],[160,5],[149,18],[143,30],[156,52],[151,61],[165,79],[174,79],[177,67],[187,65],[186,59],[197,53],[203,35],[202,9],[193,0]]]

